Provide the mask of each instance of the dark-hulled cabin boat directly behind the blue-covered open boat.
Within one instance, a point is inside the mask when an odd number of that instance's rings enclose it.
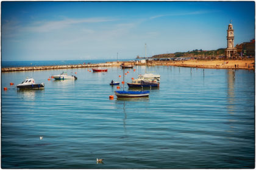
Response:
[[[143,80],[143,79],[135,79],[132,80],[132,83],[127,83],[129,87],[159,87],[159,82],[156,80]]]

